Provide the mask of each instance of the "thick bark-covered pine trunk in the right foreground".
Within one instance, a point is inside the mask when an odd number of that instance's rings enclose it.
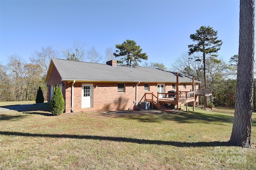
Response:
[[[253,67],[254,67],[254,0],[240,0],[240,29],[236,104],[230,143],[251,148]]]

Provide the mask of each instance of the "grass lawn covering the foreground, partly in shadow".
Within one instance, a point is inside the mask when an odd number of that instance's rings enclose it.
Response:
[[[51,116],[46,107],[0,111],[0,169],[256,169],[256,113],[243,149],[226,143],[234,110]]]

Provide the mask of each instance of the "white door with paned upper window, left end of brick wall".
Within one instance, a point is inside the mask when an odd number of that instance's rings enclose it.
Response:
[[[92,84],[82,84],[82,108],[92,107]]]

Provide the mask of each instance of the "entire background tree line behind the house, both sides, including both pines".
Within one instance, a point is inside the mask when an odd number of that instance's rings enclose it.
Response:
[[[202,35],[205,35],[202,38]],[[214,106],[234,107],[236,94],[236,70],[238,55],[230,57],[228,63],[218,58],[217,52],[222,45],[218,40],[217,31],[212,27],[202,26],[191,34],[190,38],[195,44],[188,45],[189,51],[180,56],[170,68],[163,63],[147,63],[142,66],[158,68],[165,71],[180,72],[190,78],[202,82],[199,88],[212,89],[213,100],[200,98],[200,104],[210,102]],[[42,47],[34,51],[30,63],[26,63],[20,56],[9,56],[6,66],[0,65],[0,101],[35,100],[36,92],[41,86],[45,99],[47,87],[44,80],[52,58],[61,58],[74,61],[88,61],[98,63],[103,57],[95,47],[85,49],[85,43],[74,41],[72,48],[57,51],[52,46]],[[118,65],[136,66],[146,61],[148,56],[133,40],[126,40],[116,45],[116,51],[106,48],[104,60],[118,60]],[[207,84],[207,86],[206,86]]]

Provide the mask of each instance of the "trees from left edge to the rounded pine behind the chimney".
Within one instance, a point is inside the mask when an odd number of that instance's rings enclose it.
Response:
[[[90,63],[114,59],[118,60],[118,65],[123,66],[138,65],[142,59],[148,59],[146,53],[141,53],[142,49],[133,40],[126,40],[116,45],[115,52],[112,48],[106,48],[104,59],[95,47],[86,50],[85,46],[85,43],[75,40],[73,47],[68,49],[56,50],[50,45],[42,47],[40,51],[32,53],[29,63],[19,55],[8,56],[8,63],[0,64],[0,102],[36,100],[39,86],[43,91],[44,99],[47,100],[47,87],[44,80],[53,58]]]

